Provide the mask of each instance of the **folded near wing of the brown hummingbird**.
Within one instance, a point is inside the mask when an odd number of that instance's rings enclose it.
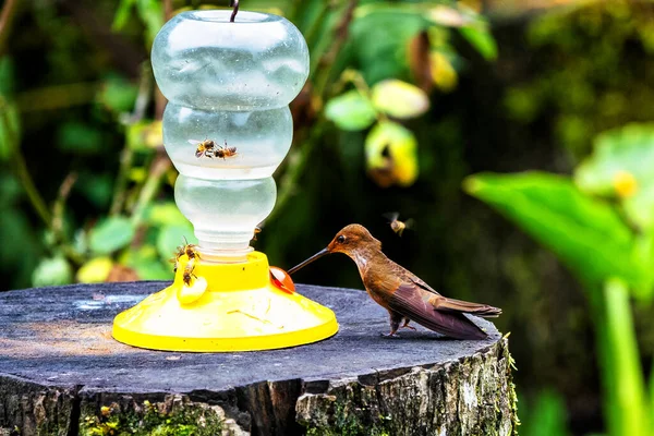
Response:
[[[455,339],[485,339],[486,335],[460,312],[439,311],[433,295],[415,283],[402,283],[388,300],[388,307],[436,332]]]

